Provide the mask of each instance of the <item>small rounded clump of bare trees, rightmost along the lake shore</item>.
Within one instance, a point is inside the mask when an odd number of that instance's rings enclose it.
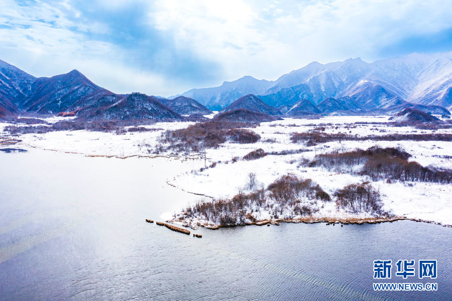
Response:
[[[338,208],[353,212],[383,214],[380,192],[369,183],[348,185],[338,189],[334,196]]]

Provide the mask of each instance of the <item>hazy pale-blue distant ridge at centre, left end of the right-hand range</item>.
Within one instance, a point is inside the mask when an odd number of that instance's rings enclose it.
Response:
[[[273,82],[258,80],[251,76],[244,76],[232,82],[223,82],[221,86],[214,88],[192,89],[185,93],[172,96],[185,96],[193,98],[211,110],[217,111],[230,105],[236,99],[247,94],[263,94]]]

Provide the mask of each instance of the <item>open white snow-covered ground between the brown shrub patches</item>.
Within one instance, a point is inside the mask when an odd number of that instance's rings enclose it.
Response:
[[[316,154],[330,153],[334,150],[345,152],[356,148],[367,149],[381,147],[402,147],[412,155],[409,160],[422,166],[452,169],[452,142],[446,141],[332,141],[315,146],[293,143],[291,133],[306,132],[317,127],[325,127],[325,133],[347,133],[359,136],[385,135],[390,133],[452,133],[452,129],[418,129],[412,126],[393,127],[389,116],[328,116],[320,119],[285,118],[273,122],[261,123],[251,128],[261,139],[252,144],[223,143],[217,149],[206,150],[206,160],[192,161],[192,170],[180,171],[167,179],[169,184],[188,192],[204,194],[215,199],[231,198],[243,189],[248,175],[256,174],[258,187],[267,187],[277,178],[292,173],[298,177],[312,179],[332,195],[337,189],[349,184],[370,181],[367,176],[351,175],[343,172],[330,172],[323,168],[308,168],[300,164],[303,159],[312,159]],[[50,120],[49,120],[50,121]],[[52,120],[53,121],[53,120]],[[355,123],[363,122],[363,123]],[[146,132],[127,132],[125,134],[95,131],[55,131],[45,134],[24,134],[22,143],[32,147],[57,150],[60,152],[81,153],[88,156],[148,156],[154,157],[153,149],[158,138],[165,130],[185,128],[193,122],[161,122],[144,127],[153,129]],[[7,137],[0,123],[0,135]],[[269,155],[264,158],[244,161],[243,156],[262,148],[265,152],[304,149],[305,152],[293,155]],[[160,154],[170,155],[170,154]],[[233,163],[233,158],[238,160]],[[186,160],[186,157],[181,157]],[[217,163],[213,168],[212,163]],[[219,163],[220,162],[220,163]],[[374,182],[379,189],[384,209],[397,216],[422,219],[452,225],[452,185],[423,182]],[[318,217],[353,216],[344,210],[337,210],[332,203],[319,208]],[[181,208],[182,209],[182,208]],[[265,214],[260,215],[262,218]],[[356,216],[356,215],[355,215]],[[360,217],[363,215],[359,215]]]

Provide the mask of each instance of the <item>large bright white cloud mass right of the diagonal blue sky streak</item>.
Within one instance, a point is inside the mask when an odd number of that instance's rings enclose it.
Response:
[[[274,79],[311,61],[378,59],[376,52],[412,35],[452,27],[442,1],[308,1],[283,5],[161,0],[155,27],[225,66],[227,79]]]

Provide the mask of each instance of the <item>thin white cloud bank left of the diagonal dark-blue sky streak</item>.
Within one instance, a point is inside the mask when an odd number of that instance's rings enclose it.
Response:
[[[175,89],[177,83],[159,74],[121,63],[123,54],[116,45],[88,40],[82,33],[74,32],[74,28],[86,31],[88,25],[69,21],[63,11],[47,4],[27,8],[6,1],[0,5],[0,24],[8,26],[0,29],[0,41],[4,41],[0,44],[1,59],[38,77],[77,69],[116,93],[170,95]],[[68,8],[69,4],[64,6]],[[108,31],[98,22],[93,22],[89,30]]]

